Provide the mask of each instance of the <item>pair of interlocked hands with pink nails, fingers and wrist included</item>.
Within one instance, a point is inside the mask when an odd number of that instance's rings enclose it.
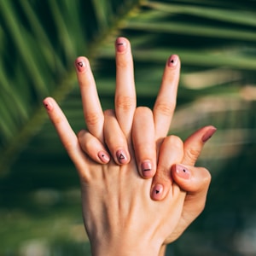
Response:
[[[211,176],[194,165],[206,138],[216,129],[204,127],[184,143],[166,137],[176,105],[177,55],[166,61],[153,111],[136,108],[131,46],[126,38],[116,41],[114,111],[102,111],[89,61],[79,57],[75,63],[88,130],[76,136],[54,99],[46,98],[44,106],[79,173],[92,253],[163,255],[166,244],[176,240],[205,206]],[[120,153],[125,158],[120,159]],[[145,161],[150,171],[143,172]],[[160,212],[157,218],[155,212]]]

